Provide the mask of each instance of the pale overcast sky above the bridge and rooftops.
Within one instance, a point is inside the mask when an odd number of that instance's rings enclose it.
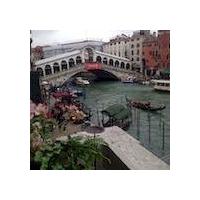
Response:
[[[37,45],[51,45],[63,42],[74,42],[86,39],[109,41],[110,38],[124,33],[126,35],[132,35],[132,31],[127,30],[85,30],[85,31],[72,31],[72,30],[32,30],[33,47]]]

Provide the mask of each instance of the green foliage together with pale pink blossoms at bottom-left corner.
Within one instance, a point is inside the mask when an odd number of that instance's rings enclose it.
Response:
[[[94,169],[95,160],[107,159],[102,154],[102,146],[107,145],[102,139],[69,136],[67,141],[54,142],[55,126],[43,115],[31,119],[31,161],[40,169]]]

